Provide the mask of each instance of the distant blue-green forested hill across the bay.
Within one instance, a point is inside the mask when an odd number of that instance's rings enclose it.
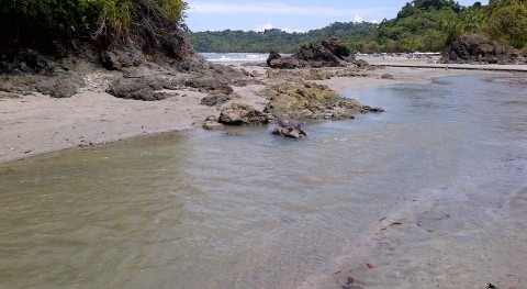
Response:
[[[379,24],[336,22],[329,26],[306,33],[288,33],[278,29],[255,31],[191,32],[190,41],[199,52],[253,52],[268,53],[277,49],[281,53],[294,53],[303,44],[321,42],[330,36],[339,38],[368,38],[377,33]]]

